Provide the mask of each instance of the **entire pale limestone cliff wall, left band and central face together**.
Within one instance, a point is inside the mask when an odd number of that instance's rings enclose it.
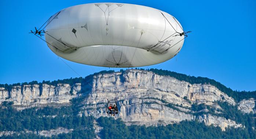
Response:
[[[80,114],[98,118],[107,116],[105,110],[108,100],[116,99],[119,109],[116,118],[120,117],[127,125],[166,125],[198,119],[206,125],[213,124],[223,130],[228,126],[242,126],[223,117],[195,116],[191,111],[191,104],[203,103],[219,109],[221,108],[216,101],[236,105],[233,98],[211,84],[190,84],[151,71],[127,70],[95,75],[91,90],[81,90],[81,83],[14,86],[9,91],[0,88],[0,103],[12,101],[17,109],[25,109],[33,106],[65,105],[70,103],[70,99],[83,96],[83,110]],[[248,106],[242,105],[242,102],[240,104],[241,109]]]

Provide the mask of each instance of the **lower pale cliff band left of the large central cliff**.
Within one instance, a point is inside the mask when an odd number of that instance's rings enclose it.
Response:
[[[63,83],[58,83],[57,86],[48,84],[14,86],[10,91],[1,87],[0,103],[12,101],[18,109],[50,104],[68,104],[70,99],[77,97],[80,90],[81,83],[76,83],[73,86]]]

